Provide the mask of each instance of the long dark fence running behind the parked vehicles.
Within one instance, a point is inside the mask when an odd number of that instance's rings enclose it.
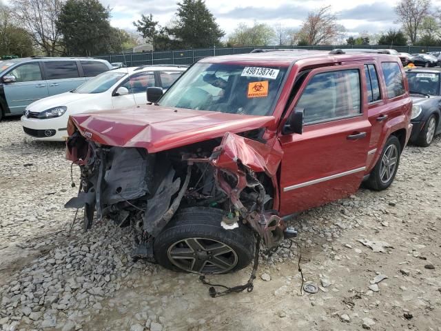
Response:
[[[349,46],[349,45],[329,45],[329,46],[263,46],[263,47],[244,47],[244,48],[202,48],[192,50],[170,50],[142,53],[123,53],[123,54],[107,54],[100,55],[96,58],[113,62],[126,63],[128,67],[143,66],[148,64],[175,64],[190,65],[203,57],[216,57],[220,55],[245,54],[256,48],[283,48],[283,49],[304,49],[304,50],[334,50],[336,48],[358,48],[358,49],[383,49],[393,48],[398,52],[427,53],[441,52],[441,47],[429,46]]]

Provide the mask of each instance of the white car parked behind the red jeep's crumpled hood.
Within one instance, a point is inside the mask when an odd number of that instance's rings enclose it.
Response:
[[[147,88],[167,90],[185,70],[187,66],[141,66],[103,72],[75,90],[31,103],[21,125],[32,138],[64,141],[71,114],[145,104]]]

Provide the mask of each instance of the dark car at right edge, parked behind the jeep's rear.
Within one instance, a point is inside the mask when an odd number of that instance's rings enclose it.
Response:
[[[441,133],[441,73],[433,69],[412,69],[406,74],[413,100],[410,142],[427,147],[435,134]]]

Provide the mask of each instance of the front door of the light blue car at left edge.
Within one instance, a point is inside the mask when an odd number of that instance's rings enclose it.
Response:
[[[30,103],[49,95],[38,60],[14,67],[3,74],[3,77],[5,76],[15,77],[14,82],[3,83],[5,99],[11,114],[21,114]]]

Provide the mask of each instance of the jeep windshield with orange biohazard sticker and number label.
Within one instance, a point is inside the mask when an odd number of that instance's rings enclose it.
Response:
[[[158,104],[232,114],[268,115],[287,68],[196,63]]]

